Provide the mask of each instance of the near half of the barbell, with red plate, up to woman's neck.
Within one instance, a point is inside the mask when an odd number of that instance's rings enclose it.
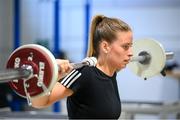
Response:
[[[80,63],[71,63],[74,69],[95,66],[96,58],[87,57]],[[31,105],[31,98],[49,95],[61,70],[53,54],[45,47],[27,44],[17,48],[8,58],[6,70],[0,72],[0,82],[10,87]]]

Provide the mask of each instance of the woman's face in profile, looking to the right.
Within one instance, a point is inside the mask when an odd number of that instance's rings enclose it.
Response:
[[[132,57],[132,32],[118,32],[117,39],[108,45],[107,60],[113,68],[125,68]]]

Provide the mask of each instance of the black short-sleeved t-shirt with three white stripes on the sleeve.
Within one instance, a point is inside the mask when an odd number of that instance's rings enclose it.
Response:
[[[75,73],[76,72],[76,73]],[[74,74],[74,75],[73,75]],[[78,76],[78,77],[77,77]],[[116,73],[110,77],[96,67],[83,67],[71,73],[68,85],[74,94],[67,98],[69,118],[118,119],[121,102]],[[73,82],[72,82],[73,81]],[[64,83],[62,84],[64,85]]]

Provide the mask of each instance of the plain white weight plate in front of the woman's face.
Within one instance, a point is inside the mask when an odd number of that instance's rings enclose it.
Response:
[[[138,56],[142,51],[150,54],[151,60],[147,65],[143,65],[138,61],[130,62],[128,67],[136,75],[142,78],[150,78],[159,74],[165,66],[166,54],[163,46],[153,39],[135,40],[133,42],[133,57]]]

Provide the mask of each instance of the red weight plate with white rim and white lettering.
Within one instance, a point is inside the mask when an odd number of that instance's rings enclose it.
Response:
[[[22,65],[30,65],[33,68],[33,74],[38,77],[32,77],[26,81],[27,92],[31,97],[36,97],[44,93],[42,87],[37,85],[38,80],[42,81],[48,89],[55,83],[57,76],[57,65],[55,58],[44,47],[39,45],[24,45],[16,49],[9,57],[7,68],[20,68]],[[11,88],[20,96],[26,97],[23,79],[9,82]]]

